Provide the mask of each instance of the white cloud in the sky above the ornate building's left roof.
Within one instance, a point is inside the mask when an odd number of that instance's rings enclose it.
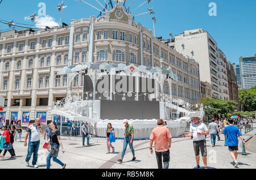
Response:
[[[24,17],[24,20],[30,20],[30,16]],[[38,28],[46,28],[46,26],[51,28],[58,25],[59,24],[55,22],[55,19],[49,15],[40,16],[39,18],[35,19],[35,27],[38,27]]]

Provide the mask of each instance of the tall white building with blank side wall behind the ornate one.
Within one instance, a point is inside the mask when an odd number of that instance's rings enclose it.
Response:
[[[175,37],[172,45],[177,52],[196,59],[200,65],[200,80],[210,83],[213,98],[228,100],[226,58],[224,53],[218,50],[217,42],[207,31],[203,28],[185,30]]]

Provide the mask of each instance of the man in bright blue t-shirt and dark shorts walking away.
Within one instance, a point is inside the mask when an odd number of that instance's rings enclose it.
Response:
[[[238,127],[234,126],[233,119],[228,120],[229,126],[226,126],[224,129],[224,135],[226,135],[226,145],[229,147],[230,156],[234,160],[234,167],[238,167],[237,162],[237,151],[238,151],[238,136],[242,140],[242,143],[245,144],[245,141],[242,138],[241,132]]]

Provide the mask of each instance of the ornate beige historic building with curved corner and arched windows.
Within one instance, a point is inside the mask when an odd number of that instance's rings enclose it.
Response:
[[[117,4],[100,18],[71,20],[65,27],[1,33],[0,96],[5,98],[1,111],[5,119],[10,120],[12,113],[18,119],[29,113],[28,119],[34,120],[44,113],[52,121],[53,102],[67,96],[67,75],[57,72],[86,62],[159,67],[163,59],[163,67],[171,67],[178,77],[172,87],[164,85],[164,92],[171,88],[173,98],[192,104],[200,100],[199,63],[164,44],[132,17]],[[72,81],[72,95],[82,95],[82,84],[80,74]]]

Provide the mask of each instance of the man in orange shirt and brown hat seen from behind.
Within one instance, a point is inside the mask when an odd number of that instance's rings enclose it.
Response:
[[[153,154],[152,145],[155,141],[155,155],[158,169],[168,169],[170,161],[170,148],[172,135],[168,128],[163,126],[163,119],[158,119],[158,127],[154,128],[150,135],[150,153]],[[162,156],[164,167],[162,165]]]

